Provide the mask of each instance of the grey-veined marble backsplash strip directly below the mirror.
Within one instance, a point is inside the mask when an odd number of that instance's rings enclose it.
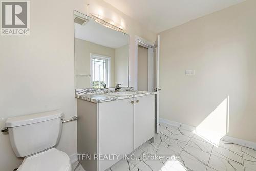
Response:
[[[120,87],[120,92],[123,91],[133,91],[134,87]],[[88,88],[88,89],[76,89],[76,95],[85,95],[85,94],[92,94],[92,93],[109,93],[109,92],[115,92],[115,88]]]

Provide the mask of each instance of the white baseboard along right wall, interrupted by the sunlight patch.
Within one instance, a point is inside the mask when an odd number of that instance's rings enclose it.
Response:
[[[167,123],[167,124],[177,126],[177,127],[182,127],[183,129],[186,129],[186,130],[189,130],[189,131],[196,130],[196,127],[194,127],[194,126],[189,126],[189,125],[186,125],[186,124],[183,124],[183,123],[170,121],[168,119],[159,118],[159,122]],[[222,137],[222,140],[225,140],[225,141],[228,141],[228,142],[231,142],[231,143],[234,143],[234,144],[242,145],[242,146],[245,146],[245,147],[252,148],[252,149],[256,150],[256,143],[255,142],[230,137],[230,136],[227,136],[227,135]]]

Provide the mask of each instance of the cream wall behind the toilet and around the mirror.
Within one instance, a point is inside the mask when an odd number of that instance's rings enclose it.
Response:
[[[99,3],[122,16],[129,25],[130,62],[135,58],[135,35],[148,40],[155,33],[103,1]],[[6,118],[59,109],[65,119],[76,115],[74,94],[74,9],[86,13],[90,1],[31,1],[30,36],[0,36],[0,127]],[[134,69],[130,65],[131,70]],[[133,84],[134,71],[131,71]],[[63,125],[58,149],[77,152],[76,122]],[[8,135],[0,134],[0,170],[13,170],[22,160],[12,152]]]

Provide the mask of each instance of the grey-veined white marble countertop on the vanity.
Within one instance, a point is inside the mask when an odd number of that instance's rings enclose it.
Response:
[[[135,94],[131,95],[115,95],[114,93],[90,93],[90,94],[77,94],[76,98],[90,101],[93,103],[101,103],[101,102],[107,102],[107,101],[114,101],[114,100],[121,100],[121,99],[127,99],[127,98],[134,98],[134,97],[141,97],[141,96],[147,96],[156,94],[156,92],[146,92],[146,91],[132,91]]]

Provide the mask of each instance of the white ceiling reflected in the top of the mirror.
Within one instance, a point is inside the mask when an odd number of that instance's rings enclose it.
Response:
[[[87,16],[82,16],[82,18],[89,19],[89,22],[84,26],[74,23],[75,38],[114,49],[129,44],[127,34],[105,27]]]

